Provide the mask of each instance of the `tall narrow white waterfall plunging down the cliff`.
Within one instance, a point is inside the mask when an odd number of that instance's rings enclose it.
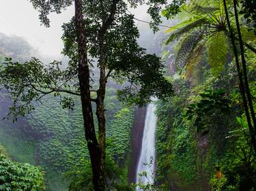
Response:
[[[137,166],[137,182],[139,179],[143,184],[154,183],[153,171],[154,171],[154,162],[155,162],[155,131],[156,131],[156,114],[154,111],[156,105],[150,103],[147,105],[147,112],[145,117],[145,126],[143,131],[143,139],[141,145],[141,154],[139,156],[139,162]],[[152,167],[149,167],[145,164],[150,164],[152,160]],[[143,172],[147,173],[147,177],[138,177],[138,174]],[[139,191],[140,189],[137,188]]]

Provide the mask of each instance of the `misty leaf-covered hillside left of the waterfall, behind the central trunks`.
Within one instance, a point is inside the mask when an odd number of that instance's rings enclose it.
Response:
[[[130,150],[134,109],[117,101],[115,89],[108,88],[107,94],[107,150],[109,156],[124,164]],[[6,111],[5,101],[8,99],[1,94],[1,109]],[[66,110],[57,98],[49,96],[44,104],[38,104],[35,111],[18,122],[1,121],[1,143],[13,160],[40,165],[45,171],[48,190],[66,190],[68,181],[62,180],[63,175],[84,167],[89,161],[79,99],[75,102],[73,111]]]

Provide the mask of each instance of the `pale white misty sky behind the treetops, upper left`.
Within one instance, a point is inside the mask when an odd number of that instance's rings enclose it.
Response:
[[[131,10],[138,18],[147,17],[146,8]],[[1,0],[0,6],[0,33],[6,35],[17,35],[26,39],[33,48],[39,50],[42,56],[59,58],[62,49],[61,25],[68,22],[74,15],[74,7],[62,14],[51,14],[51,27],[41,25],[38,19],[38,12],[33,9],[28,0]],[[145,25],[142,23],[137,23]],[[145,27],[145,26],[144,26]]]

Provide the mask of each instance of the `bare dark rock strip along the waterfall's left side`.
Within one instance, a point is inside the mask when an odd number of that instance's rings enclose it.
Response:
[[[135,111],[134,123],[132,126],[131,137],[131,161],[130,168],[128,169],[128,181],[134,183],[136,181],[137,163],[139,160],[139,154],[141,152],[141,143],[143,137],[143,130],[145,124],[146,108],[141,107]]]

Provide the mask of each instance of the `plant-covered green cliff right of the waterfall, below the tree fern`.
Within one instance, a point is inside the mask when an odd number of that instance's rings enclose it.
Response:
[[[243,179],[253,186],[250,179],[255,174],[255,156],[248,142],[248,127],[244,120],[240,126],[240,118],[236,118],[242,112],[239,94],[236,88],[223,94],[218,80],[208,83],[200,87],[207,84],[212,90],[197,92],[197,86],[184,92],[182,86],[183,92],[169,102],[158,103],[158,179],[180,190],[193,190],[195,186],[204,190],[210,179],[214,187],[223,184],[221,190],[246,188]],[[244,165],[248,169],[242,171]],[[225,176],[221,180],[214,177],[217,166]]]

